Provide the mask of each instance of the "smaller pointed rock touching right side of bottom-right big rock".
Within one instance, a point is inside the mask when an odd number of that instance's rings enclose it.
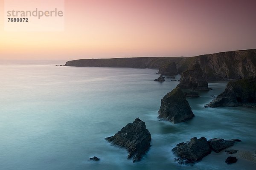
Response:
[[[221,150],[224,150],[227,147],[233,146],[235,144],[235,141],[224,140],[219,138],[210,139],[208,142],[212,150],[216,153],[219,153]]]

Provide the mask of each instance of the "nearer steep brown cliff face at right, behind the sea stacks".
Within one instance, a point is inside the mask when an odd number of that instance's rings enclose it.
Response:
[[[191,63],[198,62],[207,81],[241,79],[256,76],[256,49],[207,54],[180,61],[181,74]]]

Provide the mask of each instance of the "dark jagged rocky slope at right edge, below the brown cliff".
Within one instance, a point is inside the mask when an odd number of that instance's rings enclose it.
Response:
[[[239,106],[245,103],[256,103],[256,77],[228,82],[225,91],[205,107]]]

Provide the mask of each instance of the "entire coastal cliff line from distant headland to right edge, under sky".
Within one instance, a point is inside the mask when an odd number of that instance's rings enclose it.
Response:
[[[188,70],[190,63],[198,62],[202,70],[202,77],[207,81],[256,76],[256,49],[228,51],[196,57],[78,59],[66,62],[65,66],[161,68],[160,74],[168,75],[175,71],[169,67],[173,62],[176,64],[178,74]]]

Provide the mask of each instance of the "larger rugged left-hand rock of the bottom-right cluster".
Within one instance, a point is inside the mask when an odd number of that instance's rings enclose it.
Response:
[[[211,153],[211,148],[205,137],[194,137],[190,142],[177,144],[172,151],[177,156],[178,164],[194,164]]]

